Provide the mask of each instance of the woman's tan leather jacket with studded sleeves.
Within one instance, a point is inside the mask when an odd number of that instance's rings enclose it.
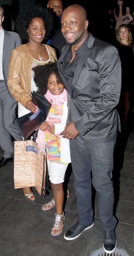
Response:
[[[57,61],[55,50],[45,45],[50,53],[50,62]],[[31,99],[31,64],[33,62],[33,56],[28,51],[26,44],[20,45],[13,49],[8,69],[8,89],[13,97],[26,107],[26,103]]]

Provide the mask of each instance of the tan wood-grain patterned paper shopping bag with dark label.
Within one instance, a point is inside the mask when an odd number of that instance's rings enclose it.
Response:
[[[14,142],[14,187],[35,187],[45,193],[46,158],[34,141]]]

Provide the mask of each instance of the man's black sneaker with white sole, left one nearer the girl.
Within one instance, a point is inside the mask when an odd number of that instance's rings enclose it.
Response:
[[[67,232],[64,234],[64,239],[74,240],[79,237],[83,231],[90,229],[90,227],[93,227],[93,224],[85,227],[83,224],[80,224],[79,221],[77,221],[75,225],[70,227],[70,229],[68,229]]]

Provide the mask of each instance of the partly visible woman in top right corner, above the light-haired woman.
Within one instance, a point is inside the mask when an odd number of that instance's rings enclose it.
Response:
[[[122,19],[130,14],[130,8],[126,7],[124,0],[117,0],[116,8],[114,9],[114,15],[116,19],[116,29],[119,29]],[[127,22],[129,24],[130,21]]]

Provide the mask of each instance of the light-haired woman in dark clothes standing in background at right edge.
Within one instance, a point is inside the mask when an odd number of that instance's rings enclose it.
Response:
[[[130,92],[133,90],[134,54],[132,51],[133,42],[131,30],[127,25],[119,27],[119,34],[116,36],[118,51],[121,59],[122,83],[119,102],[119,112],[123,128],[126,126],[127,116],[130,108]]]

